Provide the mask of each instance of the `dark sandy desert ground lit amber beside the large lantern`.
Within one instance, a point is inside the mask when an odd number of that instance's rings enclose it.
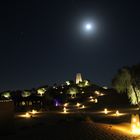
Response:
[[[140,135],[131,132],[131,113],[135,109],[122,109],[120,116],[114,110],[103,111],[40,111],[26,118],[16,113],[10,133],[0,136],[1,140],[139,140]],[[131,112],[131,113],[130,113]]]

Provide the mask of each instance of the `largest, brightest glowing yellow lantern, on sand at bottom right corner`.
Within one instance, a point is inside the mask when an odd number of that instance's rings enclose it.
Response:
[[[139,115],[132,115],[131,117],[131,131],[134,134],[140,134]]]

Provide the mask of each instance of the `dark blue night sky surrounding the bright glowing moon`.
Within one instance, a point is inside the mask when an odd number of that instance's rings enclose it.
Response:
[[[87,34],[82,24],[95,29]],[[109,86],[122,66],[140,61],[137,0],[0,2],[0,91],[75,80]]]

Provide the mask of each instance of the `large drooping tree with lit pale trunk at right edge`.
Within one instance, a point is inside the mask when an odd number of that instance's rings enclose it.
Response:
[[[140,108],[140,65],[119,70],[112,86],[120,93],[127,92],[131,104],[137,104]]]

